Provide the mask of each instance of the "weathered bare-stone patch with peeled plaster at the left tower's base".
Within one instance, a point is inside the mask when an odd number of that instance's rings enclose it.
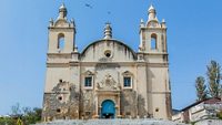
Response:
[[[44,93],[42,118],[79,118],[79,93],[73,84],[60,82],[51,93]]]

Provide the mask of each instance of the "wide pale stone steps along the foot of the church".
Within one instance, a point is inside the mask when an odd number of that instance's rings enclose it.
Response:
[[[63,119],[53,121],[49,123],[40,123],[36,125],[188,125],[183,123],[175,123],[171,121],[159,121],[159,119]]]

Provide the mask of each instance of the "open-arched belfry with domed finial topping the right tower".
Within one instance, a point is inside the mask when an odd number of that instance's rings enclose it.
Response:
[[[140,23],[140,52],[167,53],[167,25],[164,19],[160,23],[153,6],[148,10],[148,21]]]

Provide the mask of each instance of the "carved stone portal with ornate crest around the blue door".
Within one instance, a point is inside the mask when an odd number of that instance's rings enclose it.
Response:
[[[97,83],[98,112],[100,118],[115,118],[120,116],[120,83],[112,75],[107,74]]]

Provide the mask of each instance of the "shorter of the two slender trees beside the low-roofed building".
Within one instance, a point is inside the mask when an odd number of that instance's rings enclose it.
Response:
[[[202,101],[202,100],[208,97],[205,80],[204,80],[203,76],[196,77],[196,80],[195,80],[195,90],[196,90],[198,101]]]

